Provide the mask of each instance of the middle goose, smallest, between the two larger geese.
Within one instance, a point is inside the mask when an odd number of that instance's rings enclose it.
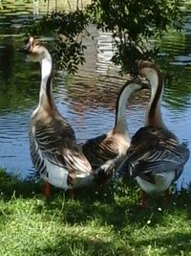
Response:
[[[147,88],[147,84],[138,78],[126,81],[117,95],[114,128],[82,144],[82,151],[96,170],[100,184],[105,184],[113,171],[117,172],[117,168],[121,166],[123,156],[131,143],[126,104],[133,93],[144,88]]]

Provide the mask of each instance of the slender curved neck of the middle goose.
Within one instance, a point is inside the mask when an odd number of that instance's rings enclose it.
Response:
[[[130,85],[125,86],[119,92],[117,98],[117,106],[116,106],[116,121],[115,121],[115,131],[124,134],[126,137],[131,138],[127,121],[126,121],[126,105],[127,102],[133,93],[133,87]]]

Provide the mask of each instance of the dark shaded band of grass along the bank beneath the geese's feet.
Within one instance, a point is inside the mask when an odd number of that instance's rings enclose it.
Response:
[[[50,215],[57,214],[62,223],[86,223],[90,220],[114,226],[120,231],[127,223],[139,227],[152,219],[152,225],[159,224],[166,214],[176,211],[184,212],[191,219],[191,192],[182,191],[171,194],[170,202],[165,204],[163,198],[153,200],[151,207],[142,209],[138,206],[138,187],[131,181],[111,181],[106,187],[75,190],[75,199],[70,200],[67,193],[52,187],[52,197],[43,196],[44,182],[33,180],[21,181],[14,175],[0,172],[1,198],[5,201],[14,198],[40,198],[43,204],[35,205],[38,213],[45,209]]]

